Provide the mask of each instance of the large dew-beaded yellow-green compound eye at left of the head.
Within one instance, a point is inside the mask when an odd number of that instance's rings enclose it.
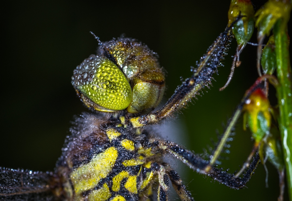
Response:
[[[125,75],[104,57],[91,55],[85,59],[74,70],[72,84],[81,93],[85,105],[99,111],[123,110],[132,100],[132,90]]]

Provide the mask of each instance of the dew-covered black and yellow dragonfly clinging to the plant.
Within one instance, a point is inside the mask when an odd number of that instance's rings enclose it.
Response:
[[[227,55],[230,30],[240,18],[219,35],[197,68],[191,68],[190,77],[182,80],[165,105],[155,111],[165,91],[165,73],[157,54],[136,39],[102,42],[95,36],[97,54],[76,67],[71,81],[89,112],[75,119],[55,171],[1,168],[1,198],[134,201],[153,200],[156,192],[158,201],[168,201],[172,185],[181,200],[194,200],[176,170],[162,159],[166,154],[230,188],[243,188],[259,162],[257,153],[244,176],[235,177],[218,169],[217,159],[205,159],[147,127],[182,111],[211,85]],[[255,89],[244,96],[239,107]]]

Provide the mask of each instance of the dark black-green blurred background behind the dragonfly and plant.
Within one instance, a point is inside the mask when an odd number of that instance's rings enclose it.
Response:
[[[253,1],[255,9],[264,2]],[[229,0],[6,2],[1,6],[0,166],[54,170],[64,138],[69,135],[70,121],[74,115],[87,111],[75,94],[71,76],[83,59],[96,52],[98,44],[90,31],[102,41],[125,34],[157,52],[167,71],[166,101],[181,83],[179,77],[191,75],[190,66],[224,31],[229,4]],[[288,27],[292,27],[291,20]],[[291,35],[292,30],[289,31]],[[251,42],[256,42],[255,34]],[[183,138],[179,142],[196,153],[212,145],[211,138],[217,141],[216,129],[223,132],[222,122],[226,124],[245,90],[257,78],[256,47],[247,45],[230,85],[219,92],[230,73],[235,41],[231,47],[223,61],[225,66],[219,68],[219,75],[214,75],[213,87],[198,96],[195,104],[189,104],[177,119],[168,120],[169,124],[182,127],[176,138]],[[277,102],[272,87],[270,102]],[[168,136],[168,131],[164,131],[164,136]],[[242,131],[242,119],[230,144],[230,154],[222,155],[228,159],[221,160],[221,167],[233,173],[253,145],[250,132]],[[260,164],[247,188],[241,190],[229,189],[185,165],[177,169],[183,173],[195,200],[276,200],[278,174],[269,163],[267,167],[269,188],[265,187],[266,173]],[[288,199],[287,188],[285,196]]]

